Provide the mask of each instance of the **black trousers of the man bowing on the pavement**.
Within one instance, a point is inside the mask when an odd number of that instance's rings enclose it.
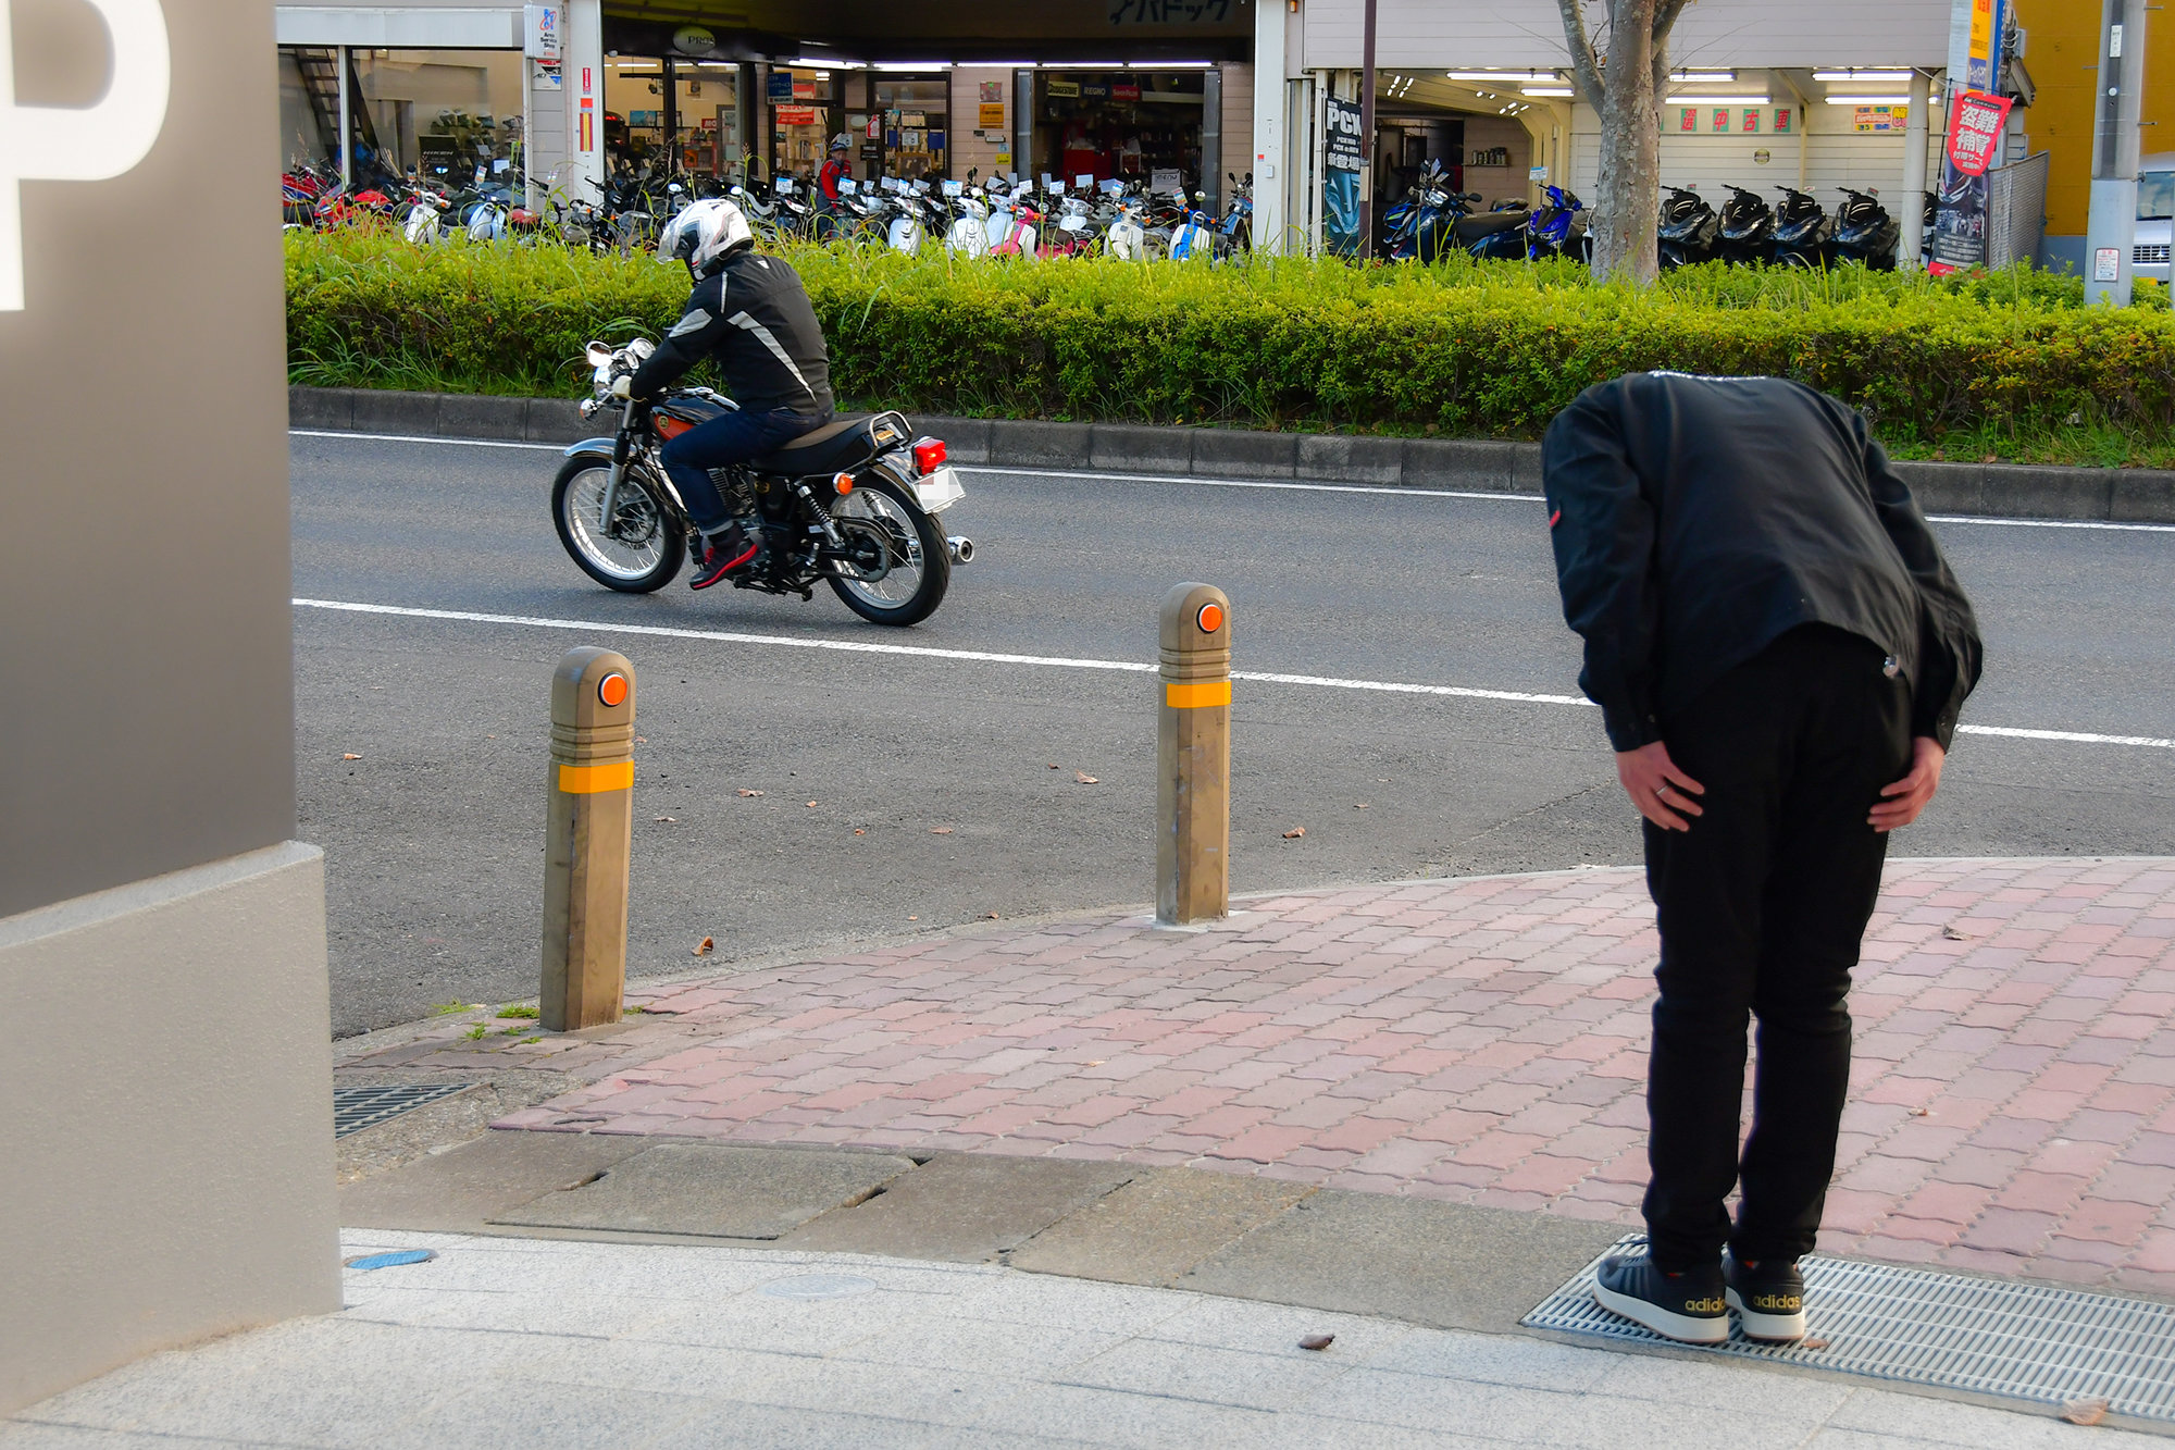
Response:
[[[1662,721],[1707,788],[1690,832],[1646,823],[1662,927],[1646,1232],[1664,1269],[1812,1250],[1851,1084],[1842,999],[1888,838],[1866,823],[1910,762],[1910,686],[1881,649],[1805,625]],[[1738,1158],[1747,1015],[1753,1130]],[[1736,1234],[1723,1200],[1742,1184]]]

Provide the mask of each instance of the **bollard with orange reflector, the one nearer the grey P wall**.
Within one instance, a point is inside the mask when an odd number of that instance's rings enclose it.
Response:
[[[544,847],[546,1032],[620,1021],[626,873],[635,827],[635,666],[583,644],[550,679]]]

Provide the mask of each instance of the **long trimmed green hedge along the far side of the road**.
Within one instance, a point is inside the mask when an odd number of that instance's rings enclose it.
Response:
[[[2164,300],[2075,279],[1692,268],[1651,292],[1570,263],[1353,268],[953,261],[796,248],[844,403],[1016,418],[1533,438],[1642,368],[1797,377],[1907,453],[2160,462]],[[287,244],[296,383],[581,394],[589,337],[659,335],[687,281],[561,248]]]

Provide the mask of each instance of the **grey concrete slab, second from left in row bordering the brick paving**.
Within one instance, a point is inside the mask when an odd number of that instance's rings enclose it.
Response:
[[[592,1228],[711,1239],[779,1239],[881,1191],[911,1158],[761,1152],[716,1143],[650,1147],[579,1187],[546,1191],[492,1217],[524,1228]]]

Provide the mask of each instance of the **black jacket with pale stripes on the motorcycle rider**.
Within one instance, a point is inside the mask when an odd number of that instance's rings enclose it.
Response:
[[[753,414],[792,409],[831,416],[831,353],[800,274],[744,248],[694,285],[687,311],[629,388],[637,398],[670,388],[711,357],[733,398]]]

